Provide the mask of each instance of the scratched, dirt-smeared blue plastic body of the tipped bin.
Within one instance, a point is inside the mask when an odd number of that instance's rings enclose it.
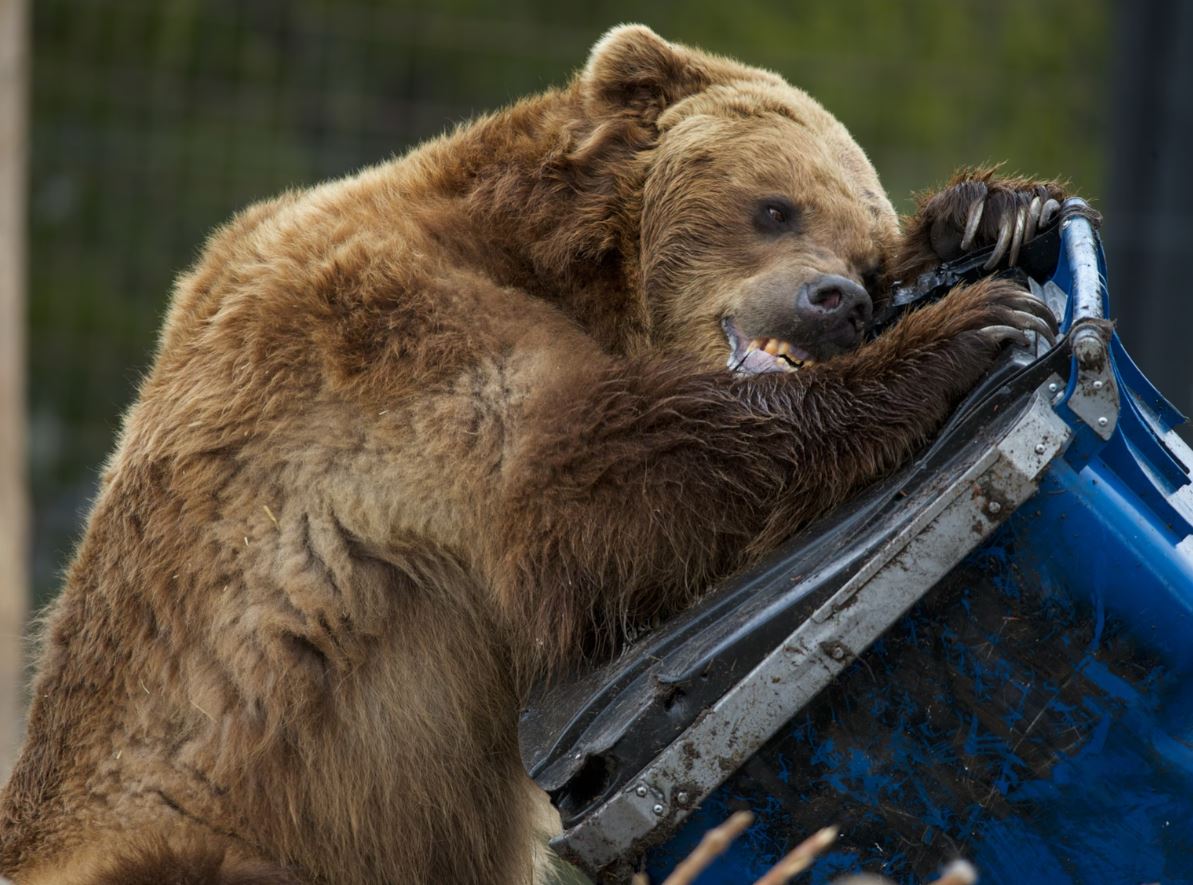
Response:
[[[1053,281],[1070,291],[1071,274],[1063,260],[1061,265]],[[1099,266],[1105,279],[1100,249]],[[1181,464],[1188,451],[1164,442],[1183,417],[1144,378],[1117,336],[1112,359],[1121,398],[1113,438],[1102,444],[1068,409],[1058,409],[1080,434],[1080,445],[1052,465],[1038,494],[968,559],[996,576],[995,592],[1008,617],[1028,590],[1033,599],[1047,600],[1041,642],[1069,642],[1068,627],[1078,623],[1081,635],[1092,637],[1071,651],[1071,677],[1086,687],[1080,699],[1063,701],[1057,685],[1051,705],[1038,713],[1052,717],[1053,732],[1056,723],[1071,724],[1082,739],[1071,748],[1033,744],[1031,723],[1025,728],[1016,722],[1024,713],[1013,706],[1003,710],[1001,724],[1026,735],[1014,744],[978,717],[964,735],[934,732],[922,698],[882,680],[895,666],[890,648],[898,639],[914,642],[917,631],[941,630],[917,607],[841,677],[867,668],[872,687],[854,700],[886,720],[894,716],[900,728],[876,729],[841,748],[810,716],[797,716],[753,760],[754,770],[750,763],[738,769],[649,855],[653,881],[662,881],[707,829],[746,805],[758,816],[755,824],[698,881],[754,881],[808,835],[789,831],[790,817],[815,787],[855,809],[905,809],[922,823],[923,834],[920,844],[830,852],[812,868],[811,883],[861,869],[900,883],[926,881],[922,864],[917,873],[909,869],[909,852],[922,854],[938,840],[945,861],[952,854],[944,848],[945,837],[991,885],[1193,883],[1193,562],[1177,550],[1193,533],[1193,514],[1174,497],[1189,483]],[[965,590],[956,605],[975,601]],[[982,648],[947,630],[935,636],[946,649],[939,664],[965,674],[978,703],[983,691],[1006,693],[1014,662],[1002,654],[999,636],[985,637]],[[1117,666],[1106,645],[1111,636],[1132,643],[1145,661],[1131,679],[1108,666]],[[939,700],[948,703],[946,694]],[[1031,774],[1028,753],[1053,760],[1045,776]],[[803,770],[792,763],[797,754]],[[932,765],[959,766],[975,757],[994,766],[987,798],[996,794],[997,803],[959,805],[941,792],[939,778],[923,776]],[[784,785],[784,797],[760,792],[760,765]]]

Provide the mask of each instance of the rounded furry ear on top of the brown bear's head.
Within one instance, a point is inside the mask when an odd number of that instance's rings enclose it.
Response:
[[[696,52],[668,43],[645,25],[618,25],[606,32],[580,75],[591,115],[629,111],[648,123],[669,105],[703,91],[709,81]]]

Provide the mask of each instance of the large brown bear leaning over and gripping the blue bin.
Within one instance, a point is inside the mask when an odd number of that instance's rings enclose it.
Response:
[[[987,279],[864,342],[892,277],[1000,231],[1006,264],[1062,197],[962,175],[901,233],[806,94],[624,26],[565,88],[246,210],[178,283],[49,614],[0,871],[531,880],[527,686],[1050,334]]]

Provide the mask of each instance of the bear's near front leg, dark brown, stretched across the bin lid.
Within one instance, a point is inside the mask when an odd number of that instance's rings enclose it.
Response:
[[[795,375],[612,363],[507,421],[486,573],[532,669],[616,648],[903,464],[1047,308],[996,279]]]

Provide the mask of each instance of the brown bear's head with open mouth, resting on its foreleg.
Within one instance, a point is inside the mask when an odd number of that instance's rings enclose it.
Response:
[[[639,150],[638,285],[653,347],[741,373],[857,346],[898,218],[845,126],[767,70],[622,25],[579,88]]]

